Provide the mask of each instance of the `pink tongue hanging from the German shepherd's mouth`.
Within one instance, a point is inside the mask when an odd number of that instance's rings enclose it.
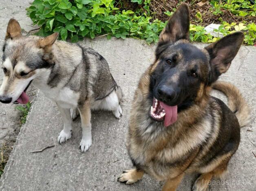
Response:
[[[178,118],[177,105],[168,106],[163,102],[160,102],[160,105],[166,111],[166,116],[164,117],[164,126],[168,127],[177,121],[177,118]]]

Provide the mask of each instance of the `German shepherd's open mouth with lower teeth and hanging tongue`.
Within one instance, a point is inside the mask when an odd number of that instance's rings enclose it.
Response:
[[[177,121],[177,105],[169,106],[156,98],[153,98],[153,103],[150,108],[150,116],[157,121],[164,120],[164,126],[168,127]]]

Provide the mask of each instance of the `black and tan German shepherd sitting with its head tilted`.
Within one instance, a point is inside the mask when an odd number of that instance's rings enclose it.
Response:
[[[249,119],[239,90],[216,80],[230,67],[243,33],[223,37],[200,50],[189,42],[189,9],[183,3],[159,36],[155,61],[142,75],[130,113],[127,149],[136,167],[119,182],[132,184],[144,173],[174,191],[185,173],[201,174],[193,191],[207,190],[213,176],[227,171]],[[230,109],[210,91],[229,98]]]

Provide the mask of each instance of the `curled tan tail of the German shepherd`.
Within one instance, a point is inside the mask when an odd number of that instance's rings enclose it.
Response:
[[[236,115],[240,127],[247,125],[250,119],[250,109],[239,89],[231,83],[223,81],[214,82],[212,87],[227,96],[228,106]]]

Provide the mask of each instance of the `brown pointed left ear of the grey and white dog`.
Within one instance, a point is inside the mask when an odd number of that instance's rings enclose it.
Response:
[[[10,19],[7,25],[5,40],[17,39],[21,36],[20,24],[15,19]]]

